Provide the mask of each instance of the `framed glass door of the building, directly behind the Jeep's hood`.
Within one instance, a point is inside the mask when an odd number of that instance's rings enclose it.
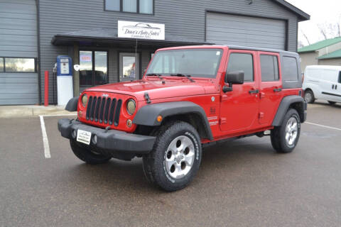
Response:
[[[139,53],[119,53],[119,81],[140,79]]]

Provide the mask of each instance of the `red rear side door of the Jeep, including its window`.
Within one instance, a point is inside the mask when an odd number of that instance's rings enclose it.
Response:
[[[258,52],[261,72],[259,123],[270,126],[282,98],[281,62],[276,52]]]

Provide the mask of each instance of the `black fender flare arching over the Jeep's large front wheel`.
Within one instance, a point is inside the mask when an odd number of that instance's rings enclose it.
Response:
[[[197,114],[203,122],[207,138],[213,140],[213,135],[208,123],[206,113],[201,106],[191,101],[171,101],[161,104],[149,104],[142,106],[137,111],[133,123],[142,126],[161,126],[161,122],[157,121],[157,117],[161,115],[164,118],[179,114]]]

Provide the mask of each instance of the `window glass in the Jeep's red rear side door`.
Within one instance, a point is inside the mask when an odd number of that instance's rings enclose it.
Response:
[[[278,77],[278,59],[274,55],[261,55],[261,81],[276,81]]]

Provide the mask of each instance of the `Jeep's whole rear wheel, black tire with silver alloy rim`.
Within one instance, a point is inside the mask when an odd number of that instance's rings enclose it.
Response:
[[[289,109],[281,126],[271,130],[271,144],[278,153],[291,153],[301,133],[301,119],[296,109]]]

